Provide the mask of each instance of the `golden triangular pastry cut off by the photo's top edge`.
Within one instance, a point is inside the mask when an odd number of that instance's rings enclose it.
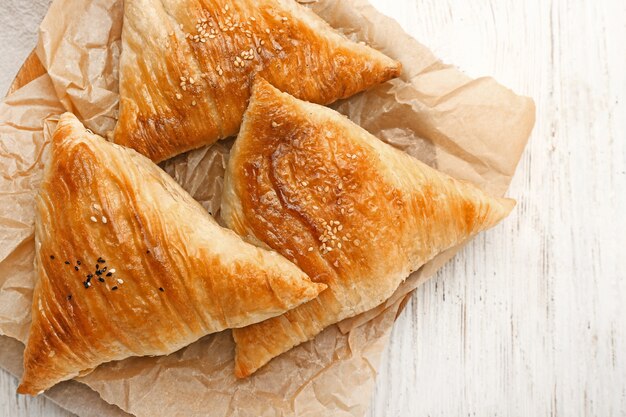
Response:
[[[400,71],[294,0],[126,0],[115,142],[159,162],[232,136],[255,74],[329,104]]]

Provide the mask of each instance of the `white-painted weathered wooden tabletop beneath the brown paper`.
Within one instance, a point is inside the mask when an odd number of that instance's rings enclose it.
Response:
[[[420,288],[372,416],[626,415],[626,1],[372,0],[447,62],[537,103],[513,215]],[[30,3],[30,4],[29,4]],[[0,90],[49,0],[0,2]],[[0,416],[67,416],[15,395]]]

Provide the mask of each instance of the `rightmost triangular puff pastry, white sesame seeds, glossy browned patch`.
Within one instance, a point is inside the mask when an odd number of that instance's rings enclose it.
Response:
[[[412,271],[495,225],[514,204],[260,80],[231,152],[222,216],[329,289],[234,330],[236,375],[378,306]]]

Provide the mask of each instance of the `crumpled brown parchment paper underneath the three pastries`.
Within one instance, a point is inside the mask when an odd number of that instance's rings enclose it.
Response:
[[[441,63],[365,0],[321,0],[310,7],[350,38],[404,65],[400,79],[335,108],[426,163],[504,193],[534,124],[532,100]],[[35,278],[33,197],[52,128],[44,120],[68,109],[101,135],[112,130],[121,24],[122,0],[55,0],[37,47],[49,76],[0,104],[1,334],[24,341],[28,333]],[[229,144],[162,164],[217,216]],[[384,305],[331,326],[244,381],[233,376],[234,344],[230,332],[222,332],[166,357],[105,364],[80,382],[137,416],[364,415],[402,300],[454,253],[441,254],[414,273]],[[20,348],[0,339],[0,365],[19,374],[17,358]],[[83,387],[71,381],[46,395],[81,415],[126,415]]]

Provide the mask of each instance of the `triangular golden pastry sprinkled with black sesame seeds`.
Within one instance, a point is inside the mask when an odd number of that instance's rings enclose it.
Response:
[[[325,288],[245,243],[149,159],[61,117],[37,199],[32,324],[18,392],[165,355]]]

